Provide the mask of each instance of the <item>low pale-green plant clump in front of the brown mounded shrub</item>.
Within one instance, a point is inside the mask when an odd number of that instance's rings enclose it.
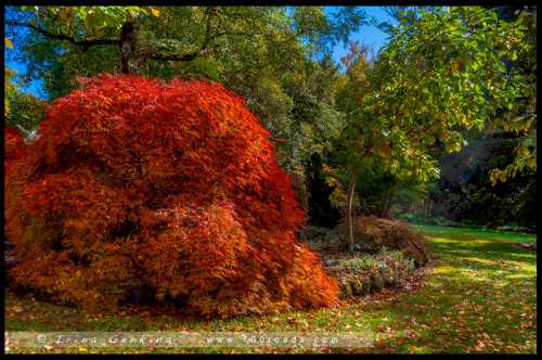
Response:
[[[378,293],[385,286],[402,286],[415,271],[414,260],[383,247],[376,254],[359,254],[331,263],[343,298]]]

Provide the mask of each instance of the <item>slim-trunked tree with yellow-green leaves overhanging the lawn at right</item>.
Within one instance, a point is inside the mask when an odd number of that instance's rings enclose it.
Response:
[[[417,17],[401,18],[369,72],[369,91],[350,114],[350,183],[352,169],[371,155],[393,172],[435,177],[430,146],[440,141],[447,151],[459,151],[461,129],[486,126],[526,137],[515,165],[495,177],[535,168],[534,29],[535,14],[504,22],[481,8],[422,10]],[[530,70],[512,66],[519,59]]]

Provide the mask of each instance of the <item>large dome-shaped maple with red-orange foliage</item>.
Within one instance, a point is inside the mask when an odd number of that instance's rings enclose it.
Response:
[[[136,288],[199,314],[315,308],[335,281],[269,132],[220,85],[104,75],[57,100],[7,182],[15,284],[111,306]]]

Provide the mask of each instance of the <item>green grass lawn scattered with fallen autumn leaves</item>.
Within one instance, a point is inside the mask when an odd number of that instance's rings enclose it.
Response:
[[[537,255],[515,246],[535,235],[416,226],[437,257],[425,284],[385,299],[312,312],[189,320],[150,312],[86,313],[8,294],[7,331],[299,331],[366,332],[371,348],[341,352],[537,352]],[[96,352],[92,348],[52,348]],[[10,352],[29,349],[10,348]],[[36,351],[33,349],[31,351]],[[101,352],[113,352],[100,349]],[[119,352],[119,349],[115,349]],[[124,352],[138,350],[125,348]],[[147,350],[139,350],[147,352]],[[158,348],[154,352],[291,352],[293,349]],[[314,351],[317,352],[317,351]]]

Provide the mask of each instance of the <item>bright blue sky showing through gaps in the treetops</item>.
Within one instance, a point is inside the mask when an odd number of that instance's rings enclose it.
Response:
[[[328,7],[326,12],[333,12],[335,7]],[[389,16],[384,12],[384,10],[379,7],[361,7],[367,15],[367,20],[371,17],[375,17],[379,22],[388,21]],[[360,28],[359,31],[353,34],[350,40],[359,41],[360,43],[367,44],[375,52],[378,51],[386,43],[386,34],[374,27],[373,25],[364,25]],[[8,47],[4,46],[5,51],[12,51]],[[348,43],[346,44],[337,44],[334,48],[332,57],[338,63],[340,59],[348,52]],[[7,65],[18,73],[23,73],[26,69],[26,64],[24,63],[15,63],[8,61]],[[41,91],[42,83],[41,81],[34,81],[28,87],[23,88],[23,91],[31,92],[39,98],[43,99],[44,94]]]

